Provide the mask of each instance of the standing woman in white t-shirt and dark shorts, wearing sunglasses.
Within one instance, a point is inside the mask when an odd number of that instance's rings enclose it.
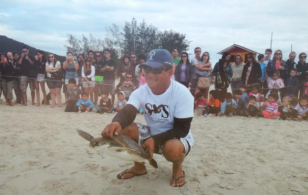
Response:
[[[61,88],[63,84],[63,74],[61,71],[61,64],[55,59],[53,53],[48,54],[48,60],[46,62],[45,70],[47,72],[47,86],[50,90],[52,105],[55,107],[56,97],[58,100],[59,107],[63,107],[61,104]]]

